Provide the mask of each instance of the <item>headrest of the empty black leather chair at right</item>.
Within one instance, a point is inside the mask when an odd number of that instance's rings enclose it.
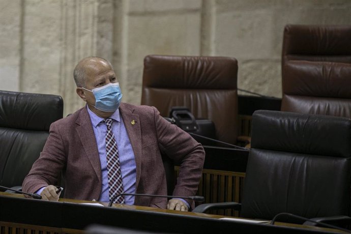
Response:
[[[251,148],[351,157],[351,120],[330,115],[257,110]]]

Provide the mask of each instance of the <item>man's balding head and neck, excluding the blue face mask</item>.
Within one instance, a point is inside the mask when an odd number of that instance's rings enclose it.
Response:
[[[83,58],[75,67],[73,77],[77,84],[76,92],[79,97],[87,103],[94,113],[102,118],[109,117],[113,112],[95,108],[96,99],[91,91],[118,82],[111,63],[101,57]]]

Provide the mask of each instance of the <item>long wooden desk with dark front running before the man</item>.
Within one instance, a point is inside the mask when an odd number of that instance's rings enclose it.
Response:
[[[133,228],[162,233],[340,233],[341,231],[295,224],[243,223],[225,216],[162,210],[98,202],[79,204],[72,199],[45,201],[0,192],[1,233],[83,233],[90,224]],[[41,232],[42,233],[42,232]]]

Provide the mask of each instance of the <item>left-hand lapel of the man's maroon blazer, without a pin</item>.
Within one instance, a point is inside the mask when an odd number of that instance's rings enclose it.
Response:
[[[76,131],[83,145],[85,154],[89,158],[99,181],[102,182],[98,147],[96,145],[92,122],[89,113],[86,110],[86,106],[82,108],[82,111],[76,120],[76,125]]]

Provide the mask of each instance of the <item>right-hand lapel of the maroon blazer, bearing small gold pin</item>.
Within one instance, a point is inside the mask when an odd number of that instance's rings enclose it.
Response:
[[[129,108],[129,106],[121,103],[120,113],[122,115],[124,126],[126,127],[130,143],[133,148],[135,156],[135,165],[136,165],[136,182],[135,188],[138,187],[140,180],[140,171],[141,171],[141,128],[139,115],[133,114],[134,109]]]

